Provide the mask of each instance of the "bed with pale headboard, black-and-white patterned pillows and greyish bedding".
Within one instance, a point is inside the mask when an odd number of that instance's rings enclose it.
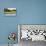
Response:
[[[18,41],[20,46],[34,46],[46,43],[46,25],[18,24]]]

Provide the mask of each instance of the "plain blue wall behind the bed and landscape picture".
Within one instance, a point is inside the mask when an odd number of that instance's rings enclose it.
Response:
[[[16,17],[3,14],[9,7],[17,8]],[[46,24],[46,0],[0,0],[0,44],[8,43],[9,32],[18,32],[17,24]]]

